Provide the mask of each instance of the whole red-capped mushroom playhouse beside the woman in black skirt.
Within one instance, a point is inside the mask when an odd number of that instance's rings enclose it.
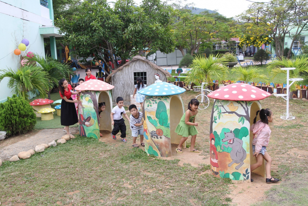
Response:
[[[75,87],[75,90],[81,91],[78,103],[79,134],[81,136],[98,139],[100,130],[112,131],[110,90],[113,87],[97,79],[90,79]],[[105,111],[100,113],[101,117],[98,111],[100,102],[106,104]]]

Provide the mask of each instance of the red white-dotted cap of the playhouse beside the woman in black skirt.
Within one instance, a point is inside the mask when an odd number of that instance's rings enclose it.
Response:
[[[76,91],[107,91],[113,89],[114,86],[98,79],[90,79],[75,87]]]

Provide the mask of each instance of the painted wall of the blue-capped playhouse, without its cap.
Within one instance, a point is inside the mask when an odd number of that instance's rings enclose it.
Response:
[[[145,97],[143,128],[145,151],[148,154],[161,157],[172,156],[171,143],[178,143],[182,138],[170,132],[170,128],[175,130],[175,125],[180,121],[173,116],[176,110],[181,115],[184,113],[181,102],[180,95]],[[170,108],[170,103],[172,103],[172,108]],[[170,117],[172,117],[171,124]]]

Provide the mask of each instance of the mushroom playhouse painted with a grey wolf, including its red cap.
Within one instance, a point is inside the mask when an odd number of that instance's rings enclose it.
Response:
[[[208,97],[215,99],[210,122],[213,175],[250,181],[250,164],[256,163],[252,153],[253,134],[250,126],[256,112],[261,109],[258,100],[268,96],[270,93],[243,83],[229,84],[209,93]],[[253,172],[265,177],[265,160]]]

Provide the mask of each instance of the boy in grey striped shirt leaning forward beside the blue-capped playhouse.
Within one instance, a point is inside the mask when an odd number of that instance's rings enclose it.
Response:
[[[130,123],[130,127],[132,130],[132,137],[133,137],[133,147],[139,147],[138,144],[136,143],[136,139],[138,137],[138,135],[140,135],[140,144],[141,146],[144,147],[144,143],[143,143],[143,121],[142,121],[142,117],[143,114],[142,112],[139,112],[137,110],[137,107],[135,104],[131,104],[128,107],[129,112],[131,113],[131,116],[129,117],[129,119],[131,120]]]

